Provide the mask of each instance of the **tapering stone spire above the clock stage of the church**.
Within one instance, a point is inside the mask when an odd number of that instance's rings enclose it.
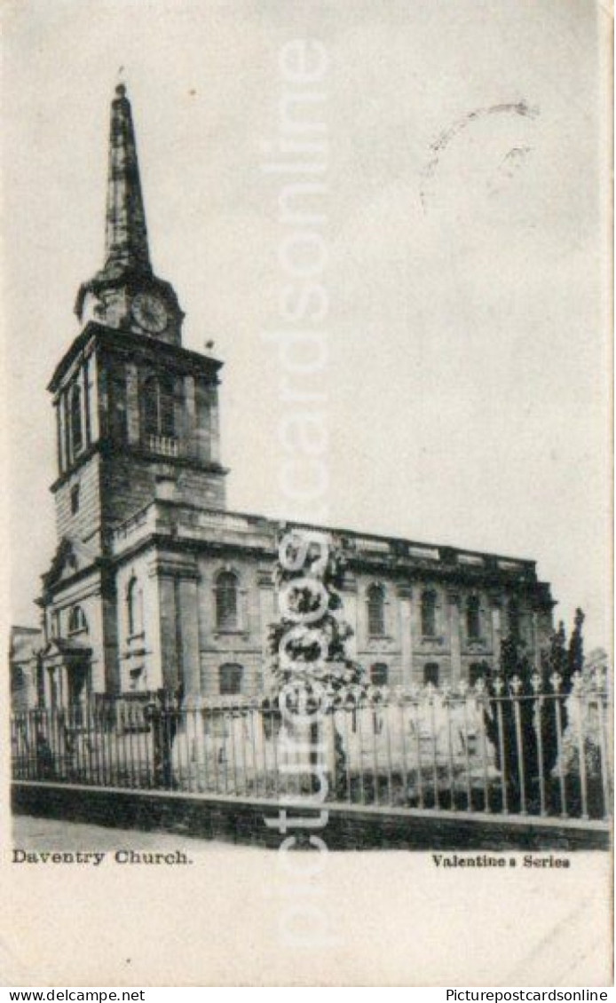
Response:
[[[130,102],[119,83],[111,102],[103,272],[125,271],[150,273],[151,265]]]

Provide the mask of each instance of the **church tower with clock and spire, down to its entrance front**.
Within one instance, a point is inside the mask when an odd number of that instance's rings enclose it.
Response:
[[[48,696],[64,702],[118,688],[116,528],[159,496],[225,508],[222,363],[183,348],[178,297],[153,272],[121,84],[111,104],[105,261],[79,289],[75,313],[80,333],[48,387],[58,549],[39,601]]]

